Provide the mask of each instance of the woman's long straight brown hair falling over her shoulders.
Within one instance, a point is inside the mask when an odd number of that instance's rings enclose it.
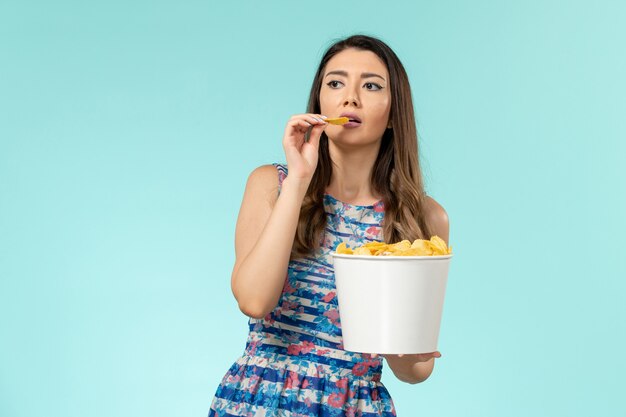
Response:
[[[320,89],[326,64],[339,52],[354,48],[375,53],[387,66],[391,92],[391,128],[386,129],[372,176],[373,190],[385,206],[383,236],[385,242],[403,239],[429,239],[424,219],[424,183],[417,152],[417,129],[409,78],[396,54],[379,39],[354,35],[331,45],[319,64],[307,106],[308,113],[319,114]],[[292,257],[305,256],[320,246],[326,227],[324,194],[332,176],[328,136],[322,133],[319,160],[306,192],[294,239]]]

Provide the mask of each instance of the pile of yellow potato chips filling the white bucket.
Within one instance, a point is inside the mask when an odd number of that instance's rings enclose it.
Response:
[[[345,242],[337,246],[337,253],[343,255],[367,256],[441,256],[452,253],[446,242],[439,236],[430,240],[416,239],[411,243],[403,240],[398,243],[370,242],[356,249],[350,249]]]

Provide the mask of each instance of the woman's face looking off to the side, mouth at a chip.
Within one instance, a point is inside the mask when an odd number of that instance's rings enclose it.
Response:
[[[329,139],[344,144],[380,140],[389,123],[389,72],[373,52],[346,49],[332,57],[324,69],[320,90],[321,114],[347,116],[350,122],[328,125]]]

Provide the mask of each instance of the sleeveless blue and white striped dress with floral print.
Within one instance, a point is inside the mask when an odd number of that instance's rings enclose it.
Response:
[[[287,169],[278,170],[279,190]],[[243,355],[222,379],[209,417],[395,416],[380,381],[383,362],[343,349],[332,251],[379,241],[382,201],[371,206],[324,196],[327,226],[312,256],[289,262],[276,308],[249,320]]]

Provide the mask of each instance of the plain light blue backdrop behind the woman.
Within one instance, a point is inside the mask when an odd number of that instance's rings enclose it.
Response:
[[[622,4],[3,1],[0,415],[206,415],[245,180],[355,32],[406,66],[456,253],[399,416],[624,415]]]

